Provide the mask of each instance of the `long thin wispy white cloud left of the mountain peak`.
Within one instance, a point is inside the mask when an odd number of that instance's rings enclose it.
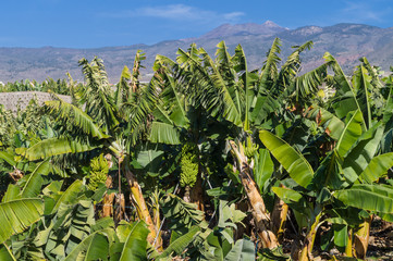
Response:
[[[156,17],[180,22],[194,23],[235,23],[245,15],[243,12],[219,13],[210,10],[202,10],[185,4],[169,4],[161,7],[145,7],[133,11],[122,11],[118,13],[102,13],[105,17]]]

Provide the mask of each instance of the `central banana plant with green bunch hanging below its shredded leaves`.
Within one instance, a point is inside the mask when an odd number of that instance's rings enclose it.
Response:
[[[160,102],[152,113],[155,121],[151,125],[150,141],[183,144],[181,185],[186,190],[185,199],[188,198],[202,209],[201,185],[209,169],[210,153],[216,149],[223,150],[223,144],[213,137],[228,135],[224,132],[228,125],[219,120],[221,115],[217,115],[213,104],[217,102],[214,97],[220,88],[226,86],[222,79],[213,80],[216,76],[211,76],[209,72],[212,69],[216,70],[214,75],[220,75],[218,72],[220,69],[205,50],[197,49],[193,45],[188,52],[180,49],[177,54],[176,62],[161,55],[156,60],[155,70],[160,73],[161,79],[157,83],[157,88],[160,89]],[[209,64],[205,64],[204,60]],[[206,95],[204,91],[208,89],[210,89],[210,100],[208,97],[202,97]],[[225,92],[231,99],[229,90]],[[231,112],[225,114],[236,119],[236,115],[230,115]],[[209,148],[208,151],[205,148]]]

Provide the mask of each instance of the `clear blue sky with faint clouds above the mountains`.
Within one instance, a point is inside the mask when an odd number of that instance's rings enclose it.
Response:
[[[288,28],[393,26],[392,0],[1,0],[0,10],[0,47],[151,45],[267,20]]]

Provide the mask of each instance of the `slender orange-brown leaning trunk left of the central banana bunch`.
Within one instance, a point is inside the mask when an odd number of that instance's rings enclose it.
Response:
[[[136,177],[134,176],[134,174],[131,171],[127,170],[125,172],[125,177],[126,177],[127,183],[131,188],[131,197],[132,197],[132,201],[136,208],[136,213],[137,213],[139,220],[145,221],[145,223],[147,224],[147,226],[150,231],[150,234],[148,235],[147,240],[152,245],[155,241],[155,238],[157,236],[156,226],[152,223],[151,215],[147,208],[144,195],[142,194],[140,186],[139,186],[138,182],[136,181]]]

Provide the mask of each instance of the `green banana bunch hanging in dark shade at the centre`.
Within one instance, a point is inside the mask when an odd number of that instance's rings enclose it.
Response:
[[[186,142],[182,148],[180,185],[193,187],[198,175],[198,148]]]

